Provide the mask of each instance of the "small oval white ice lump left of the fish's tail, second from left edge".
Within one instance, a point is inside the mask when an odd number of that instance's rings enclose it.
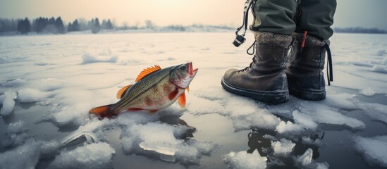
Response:
[[[18,100],[23,103],[42,101],[42,99],[49,96],[46,92],[42,92],[39,89],[20,89],[18,92]]]

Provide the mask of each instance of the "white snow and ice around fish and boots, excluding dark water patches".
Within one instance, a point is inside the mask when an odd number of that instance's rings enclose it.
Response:
[[[271,153],[288,154],[295,161],[302,155],[292,152],[299,141],[324,146],[324,140],[312,139],[309,135],[325,130],[326,126],[367,129],[362,119],[350,114],[354,110],[361,111],[371,120],[387,123],[385,104],[361,99],[386,98],[385,35],[334,35],[331,50],[335,81],[331,87],[326,87],[326,100],[302,101],[290,96],[290,101],[276,106],[235,96],[222,89],[221,77],[228,68],[245,68],[251,62],[245,49],[231,46],[229,40],[233,38],[230,33],[1,37],[0,50],[12,51],[1,52],[0,56],[2,118],[6,119],[20,105],[40,105],[49,112],[31,112],[39,115],[39,122],[53,123],[60,131],[73,129],[74,133],[92,133],[100,140],[75,149],[63,149],[60,140],[42,141],[29,134],[39,123],[25,126],[23,121],[26,119],[17,119],[3,124],[8,130],[0,140],[1,165],[35,168],[41,158],[51,156],[48,164],[51,168],[73,168],[75,165],[109,167],[113,154],[118,152],[116,149],[122,149],[128,156],[135,154],[157,161],[199,165],[202,158],[211,156],[222,145],[190,137],[195,126],[191,127],[189,123],[161,122],[161,119],[180,121],[183,114],[204,118],[209,114],[222,115],[231,120],[228,125],[235,132],[252,129],[274,131],[275,134],[266,135],[266,139],[271,141]],[[375,39],[378,41],[374,43]],[[252,42],[252,39],[248,40]],[[187,61],[192,61],[199,72],[191,83],[185,108],[173,104],[155,114],[124,112],[116,118],[104,120],[89,115],[90,108],[115,103],[116,92],[133,84],[143,68],[155,64],[166,68]],[[106,134],[109,130],[118,131],[118,148],[111,144]],[[355,136],[354,149],[369,163],[386,167],[383,160],[386,157],[372,146],[386,142],[385,137]],[[222,154],[230,168],[265,168],[271,165],[258,151],[252,154],[240,149],[234,151]],[[23,156],[18,157],[20,152]],[[86,157],[85,152],[92,156]],[[25,159],[25,163],[16,163],[16,157]],[[281,159],[278,158],[277,162],[281,163]],[[329,162],[309,162],[307,168],[329,166]]]

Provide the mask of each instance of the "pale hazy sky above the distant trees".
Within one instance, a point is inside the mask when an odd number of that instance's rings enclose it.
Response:
[[[288,0],[286,0],[288,1]],[[387,30],[387,0],[337,0],[335,27]],[[0,18],[55,18],[66,23],[98,17],[118,25],[235,25],[242,23],[243,0],[0,0]],[[250,20],[251,22],[252,20]]]

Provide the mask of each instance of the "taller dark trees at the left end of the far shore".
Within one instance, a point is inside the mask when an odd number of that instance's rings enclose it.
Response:
[[[98,33],[100,30],[111,30],[113,24],[110,20],[102,20],[99,23],[98,18],[92,20],[74,20],[72,23],[68,23],[67,27],[64,26],[61,17],[58,18],[36,18],[35,20],[25,19],[2,19],[0,18],[0,33],[4,32],[19,32],[20,34],[28,34],[30,32],[63,34],[66,32],[85,31],[91,30],[92,33]]]

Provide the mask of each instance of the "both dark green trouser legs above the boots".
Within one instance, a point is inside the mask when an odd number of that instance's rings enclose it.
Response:
[[[296,0],[259,0],[253,7],[251,30],[291,35],[305,32],[326,40],[332,36],[336,0],[300,0],[297,15]],[[297,28],[296,28],[297,26]]]

